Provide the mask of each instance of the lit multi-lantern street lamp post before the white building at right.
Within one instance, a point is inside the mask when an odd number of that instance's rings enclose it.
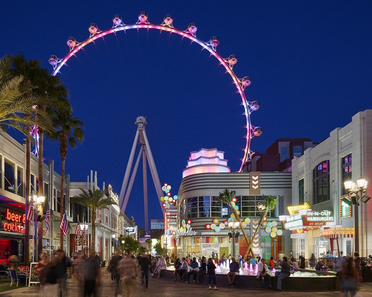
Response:
[[[347,191],[347,198],[342,198],[342,201],[347,205],[355,205],[354,208],[354,245],[355,251],[359,252],[359,200],[366,203],[371,197],[366,194],[368,181],[360,176],[356,183],[352,180],[344,182],[345,190]],[[351,201],[350,201],[351,199]]]

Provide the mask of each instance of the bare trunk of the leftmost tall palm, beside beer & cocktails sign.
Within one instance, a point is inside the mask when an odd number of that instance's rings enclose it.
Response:
[[[26,127],[26,131],[29,131],[30,128]],[[26,207],[25,212],[27,214],[27,210],[30,205],[29,196],[30,196],[30,163],[31,163],[31,140],[29,137],[26,137],[26,191],[25,191],[25,201]],[[26,220],[25,222],[25,263],[28,264],[30,262],[30,222]]]

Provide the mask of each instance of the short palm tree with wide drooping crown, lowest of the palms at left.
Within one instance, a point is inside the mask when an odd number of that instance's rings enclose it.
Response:
[[[107,197],[106,193],[101,191],[99,188],[93,186],[93,190],[84,190],[80,188],[81,194],[71,197],[70,203],[77,203],[87,207],[91,210],[92,217],[92,240],[89,254],[94,256],[96,246],[96,216],[97,210],[108,209],[109,205],[117,205],[116,202],[111,198]]]

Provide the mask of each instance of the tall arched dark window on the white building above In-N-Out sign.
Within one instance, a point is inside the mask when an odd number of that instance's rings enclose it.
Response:
[[[330,199],[329,160],[319,163],[313,170],[312,194],[314,204]]]

